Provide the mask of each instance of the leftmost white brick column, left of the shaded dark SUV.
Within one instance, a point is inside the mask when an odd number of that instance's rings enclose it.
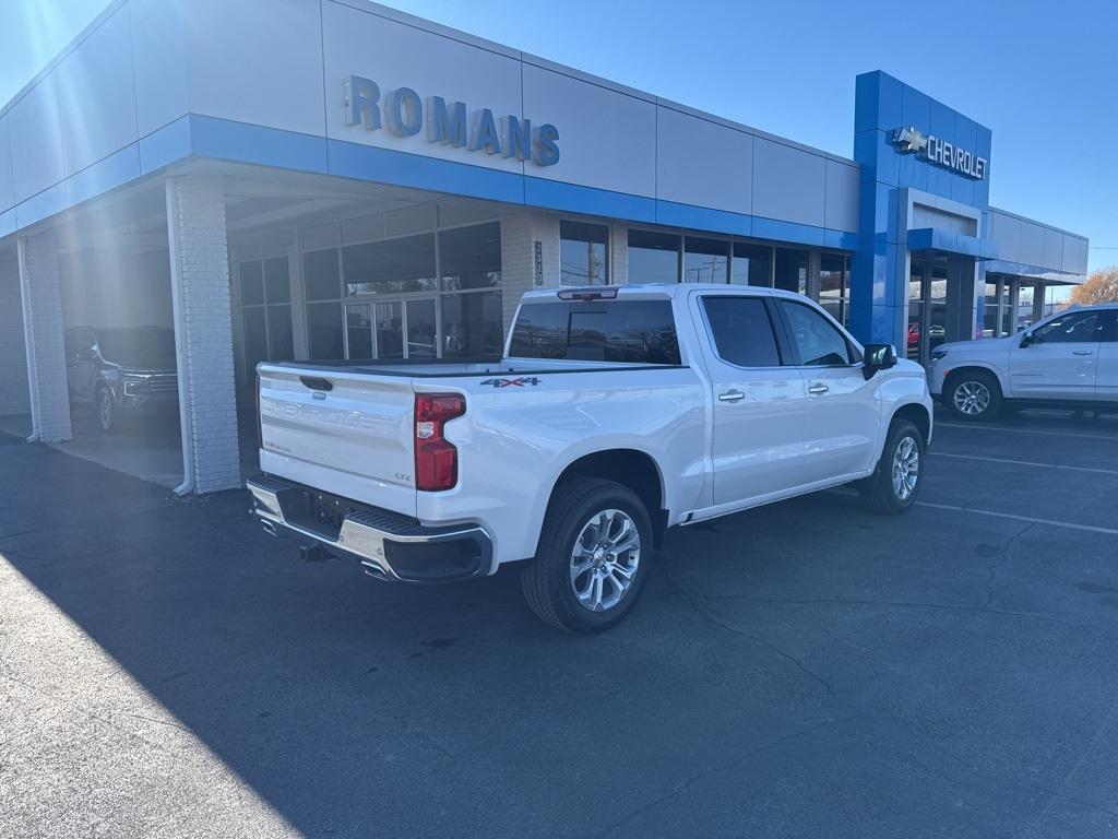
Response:
[[[31,436],[45,443],[69,440],[69,388],[58,251],[49,234],[19,239],[19,286],[31,403]]]

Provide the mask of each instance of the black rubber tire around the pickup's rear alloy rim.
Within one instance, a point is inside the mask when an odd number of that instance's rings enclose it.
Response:
[[[585,575],[601,574],[603,579],[609,581],[625,578],[620,571],[616,574],[607,573],[609,566],[606,557],[610,556],[609,554],[604,554],[599,559],[588,559],[591,563],[607,562],[606,566],[589,567],[576,579],[571,578],[576,540],[580,536],[584,539],[587,536],[594,538],[599,536],[600,528],[596,526],[595,519],[607,510],[625,513],[636,529],[638,539],[636,559],[633,562],[632,550],[623,558],[626,568],[631,567],[631,564],[635,565],[635,572],[623,592],[619,590],[619,584],[608,583],[610,598],[617,597],[617,602],[613,605],[606,606],[603,603],[603,592],[607,583],[598,584],[597,598],[603,607],[600,611],[591,611],[591,606],[584,605],[576,594],[575,586],[578,581],[588,583],[588,596],[593,601],[595,583]],[[622,517],[615,516],[614,519],[617,522],[616,532],[626,522]],[[585,541],[584,550],[590,553]],[[556,488],[548,505],[536,558],[520,573],[524,598],[540,620],[557,629],[576,635],[603,632],[619,623],[636,605],[648,578],[652,550],[652,522],[648,511],[633,490],[620,483],[598,478],[576,478],[565,481]],[[594,553],[597,556],[597,552]],[[615,567],[619,563],[614,563]]]

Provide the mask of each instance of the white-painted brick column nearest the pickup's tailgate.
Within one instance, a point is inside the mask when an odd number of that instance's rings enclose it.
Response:
[[[225,181],[214,172],[167,180],[168,237],[179,359],[182,444],[193,491],[240,486]]]

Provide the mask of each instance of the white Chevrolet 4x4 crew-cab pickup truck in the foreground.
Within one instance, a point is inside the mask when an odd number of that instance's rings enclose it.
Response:
[[[771,289],[532,292],[500,361],[258,374],[265,529],[388,581],[520,564],[575,633],[633,609],[670,527],[851,482],[903,512],[931,437],[918,365]]]

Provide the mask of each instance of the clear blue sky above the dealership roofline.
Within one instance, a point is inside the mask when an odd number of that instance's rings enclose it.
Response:
[[[0,102],[105,4],[0,0]],[[388,4],[845,155],[854,76],[884,69],[993,130],[993,204],[1090,236],[1092,268],[1118,263],[1112,1]]]

